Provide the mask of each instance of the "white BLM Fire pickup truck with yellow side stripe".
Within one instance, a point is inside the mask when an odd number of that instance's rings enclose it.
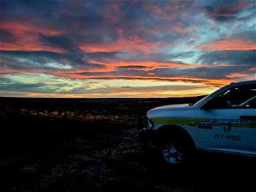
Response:
[[[195,104],[150,109],[138,134],[176,166],[200,150],[256,156],[256,81],[228,84]]]

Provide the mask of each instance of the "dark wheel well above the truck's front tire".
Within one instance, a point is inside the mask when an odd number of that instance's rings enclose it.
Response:
[[[188,133],[188,131],[186,131],[185,129],[178,125],[163,125],[162,127],[159,127],[157,132],[158,139],[160,141],[164,139],[180,140],[185,141],[188,144],[193,144],[193,147],[195,147],[195,143],[191,138],[190,134]]]

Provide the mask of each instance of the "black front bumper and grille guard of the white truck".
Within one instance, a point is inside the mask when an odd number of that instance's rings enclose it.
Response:
[[[141,141],[154,141],[156,140],[157,131],[152,128],[154,124],[152,123],[151,129],[148,129],[149,118],[146,115],[140,115],[138,118],[138,136]]]

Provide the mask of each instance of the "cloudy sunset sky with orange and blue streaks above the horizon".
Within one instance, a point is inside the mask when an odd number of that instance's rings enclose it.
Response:
[[[256,79],[256,1],[3,1],[2,97],[190,97]]]

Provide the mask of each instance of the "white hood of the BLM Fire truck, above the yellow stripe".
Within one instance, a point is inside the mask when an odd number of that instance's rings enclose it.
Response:
[[[170,113],[170,111],[184,111],[184,110],[189,110],[189,109],[195,109],[194,106],[189,106],[189,104],[173,104],[173,105],[168,105],[168,106],[160,106],[154,109],[150,109],[147,112],[148,116],[155,116],[159,114],[164,114],[164,113]]]

